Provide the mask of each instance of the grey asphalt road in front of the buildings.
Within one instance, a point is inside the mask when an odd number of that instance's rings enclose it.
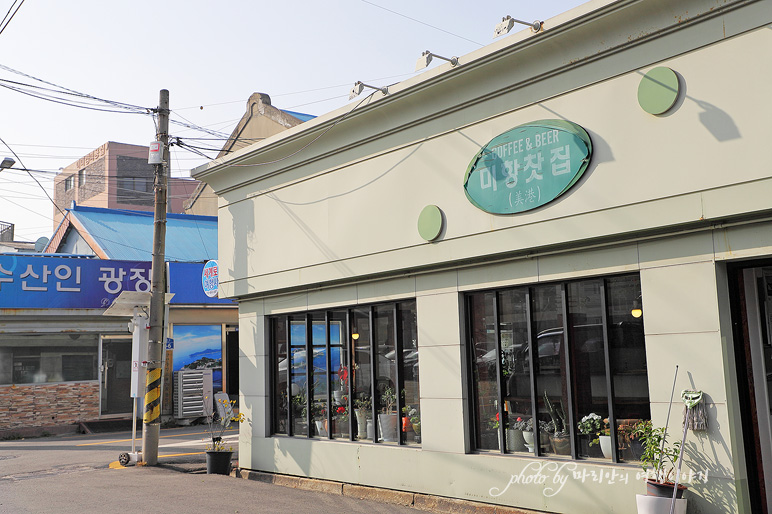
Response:
[[[159,465],[154,467],[123,467],[118,463],[119,454],[131,450],[131,432],[0,441],[0,513],[417,512],[409,507],[207,475],[206,437],[201,427],[162,430]],[[226,432],[226,437],[235,448],[237,430]]]

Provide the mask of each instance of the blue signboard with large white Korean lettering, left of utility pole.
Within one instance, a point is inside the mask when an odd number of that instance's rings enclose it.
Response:
[[[0,308],[106,308],[123,291],[150,291],[150,263],[0,255]]]

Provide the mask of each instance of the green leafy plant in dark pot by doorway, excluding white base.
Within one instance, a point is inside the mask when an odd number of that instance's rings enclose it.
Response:
[[[638,422],[630,431],[630,435],[638,439],[643,446],[641,467],[647,472],[650,469],[654,471],[654,478],[646,479],[646,494],[672,497],[675,485],[673,473],[681,452],[681,441],[668,442],[665,429],[654,427],[651,420]],[[677,497],[680,498],[686,489],[685,485],[678,484]]]

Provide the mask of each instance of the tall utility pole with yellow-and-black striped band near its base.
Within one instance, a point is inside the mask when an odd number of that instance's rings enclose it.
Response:
[[[163,159],[155,165],[155,213],[153,216],[153,266],[150,280],[150,333],[147,343],[145,415],[142,425],[142,461],[158,464],[161,431],[161,361],[164,349],[164,300],[166,294],[166,169],[169,166],[169,91],[161,90],[158,100],[158,134]]]

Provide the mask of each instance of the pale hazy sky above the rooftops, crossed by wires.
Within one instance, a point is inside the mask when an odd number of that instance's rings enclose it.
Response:
[[[49,93],[40,88],[145,109],[168,89],[170,135],[219,148],[254,92],[319,116],[348,104],[356,81],[385,86],[416,75],[424,50],[463,56],[493,42],[503,16],[543,21],[584,1],[0,0],[0,14],[9,13],[0,24],[0,158],[17,161],[0,172],[0,222],[15,225],[17,241],[50,237],[46,193],[53,197],[60,168],[108,141],[155,139],[154,120],[138,113],[147,111],[54,103],[36,97]],[[171,160],[172,176],[190,177],[207,159],[172,147]]]

